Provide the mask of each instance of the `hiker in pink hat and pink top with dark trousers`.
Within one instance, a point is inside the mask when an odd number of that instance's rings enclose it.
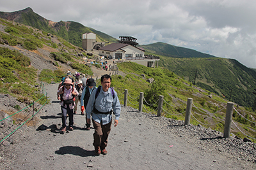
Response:
[[[64,81],[64,85],[60,87],[57,92],[58,95],[61,97],[61,120],[62,120],[62,130],[61,132],[66,131],[67,127],[67,114],[69,118],[68,127],[69,131],[73,131],[73,124],[74,124],[74,98],[77,96],[78,92],[76,88],[74,88],[72,80],[70,78],[66,78]]]

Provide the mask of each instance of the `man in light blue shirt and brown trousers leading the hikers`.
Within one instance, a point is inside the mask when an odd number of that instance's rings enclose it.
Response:
[[[108,135],[111,130],[112,113],[115,115],[114,126],[118,125],[120,117],[121,105],[118,96],[111,85],[111,76],[104,74],[100,78],[101,86],[93,90],[86,106],[87,123],[90,124],[92,115],[92,123],[94,127],[93,146],[96,155],[100,153],[106,155],[108,152]]]

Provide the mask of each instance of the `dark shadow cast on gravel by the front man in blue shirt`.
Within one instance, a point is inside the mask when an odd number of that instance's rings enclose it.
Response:
[[[79,146],[63,146],[59,150],[56,150],[55,153],[58,155],[71,154],[80,157],[95,156],[94,150],[84,150]]]

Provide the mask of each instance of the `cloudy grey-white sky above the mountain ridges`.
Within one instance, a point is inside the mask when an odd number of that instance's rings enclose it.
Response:
[[[0,1],[0,11],[27,7],[48,20],[79,22],[117,39],[164,42],[256,68],[255,0]]]

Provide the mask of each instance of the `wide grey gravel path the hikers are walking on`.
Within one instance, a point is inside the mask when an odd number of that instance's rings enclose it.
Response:
[[[184,127],[182,121],[140,113],[130,107],[122,107],[119,124],[111,129],[108,155],[95,156],[94,130],[84,130],[84,116],[74,115],[74,131],[60,133],[57,86],[45,86],[51,104],[37,115],[40,124],[36,127],[40,130],[23,127],[19,142],[1,146],[5,148],[0,169],[256,168],[254,143],[222,139],[220,132],[193,125]],[[230,146],[237,142],[241,146],[238,150]]]

